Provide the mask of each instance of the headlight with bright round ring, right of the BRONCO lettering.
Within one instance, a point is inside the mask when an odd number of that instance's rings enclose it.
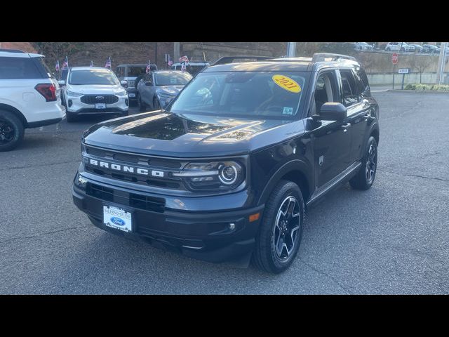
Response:
[[[236,161],[189,163],[174,177],[182,178],[192,190],[231,190],[243,183],[243,166]]]

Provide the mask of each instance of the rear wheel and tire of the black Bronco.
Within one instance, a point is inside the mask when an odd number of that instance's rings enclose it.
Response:
[[[355,190],[368,190],[373,183],[376,176],[377,169],[377,141],[371,136],[368,139],[368,144],[363,154],[362,166],[356,176],[349,180],[349,185]]]

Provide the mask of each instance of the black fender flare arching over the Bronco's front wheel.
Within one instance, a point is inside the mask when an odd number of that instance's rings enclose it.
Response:
[[[272,177],[269,178],[268,183],[265,185],[264,189],[262,190],[262,193],[260,194],[260,197],[257,201],[257,206],[264,204],[269,198],[269,195],[274,190],[274,187],[276,187],[276,185],[281,180],[281,178],[285,176],[287,173],[293,171],[300,171],[300,173],[302,173],[302,175],[306,178],[307,187],[309,188],[309,193],[311,194],[311,192],[313,192],[313,185],[314,185],[313,170],[311,169],[310,165],[307,164],[307,162],[302,161],[300,159],[293,159],[291,161],[286,162],[281,167],[279,167],[279,169],[277,169],[276,172],[274,172]]]

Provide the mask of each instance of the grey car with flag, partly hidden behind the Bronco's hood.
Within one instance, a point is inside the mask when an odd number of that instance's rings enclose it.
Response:
[[[188,72],[177,70],[149,72],[138,84],[140,111],[165,108],[191,79],[192,75]]]

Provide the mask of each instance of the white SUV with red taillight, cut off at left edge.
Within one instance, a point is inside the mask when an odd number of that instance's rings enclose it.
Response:
[[[60,87],[43,55],[0,49],[0,152],[13,150],[25,128],[61,121]]]

